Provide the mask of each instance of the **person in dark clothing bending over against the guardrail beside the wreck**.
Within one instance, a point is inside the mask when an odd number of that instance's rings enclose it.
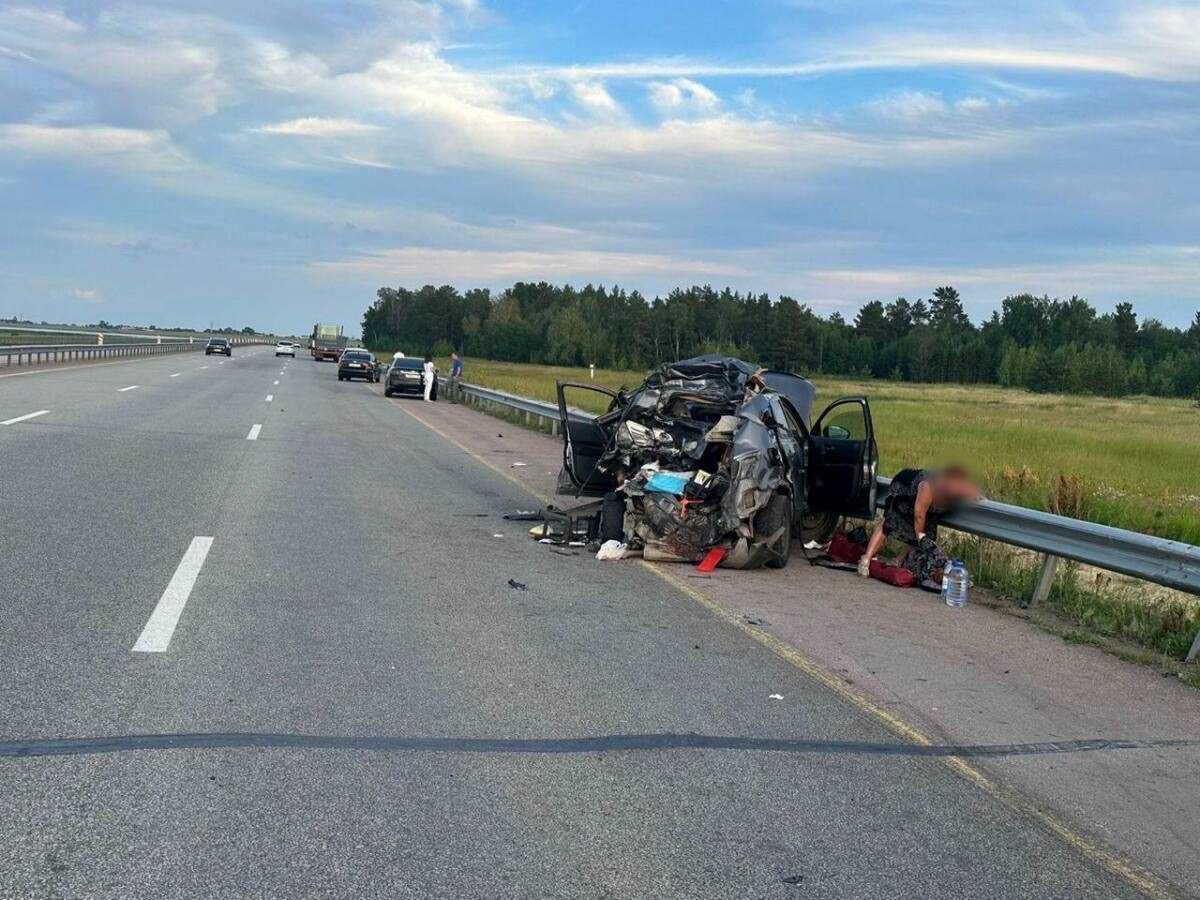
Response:
[[[979,499],[983,494],[961,466],[937,472],[904,469],[896,473],[883,505],[883,521],[871,534],[858,574],[868,575],[871,559],[883,548],[883,541],[895,538],[907,546],[900,565],[916,575],[919,583],[941,581],[949,559],[937,546],[938,520],[956,504]]]

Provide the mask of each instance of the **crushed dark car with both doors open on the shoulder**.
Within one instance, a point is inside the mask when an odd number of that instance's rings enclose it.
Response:
[[[580,391],[606,395],[607,412],[578,413]],[[660,366],[634,390],[559,382],[558,492],[604,500],[554,512],[568,532],[594,512],[589,539],[647,559],[715,551],[724,566],[782,568],[793,539],[823,542],[840,516],[875,508],[870,406],[845,397],[810,424],[815,394],[799,376],[715,354]]]

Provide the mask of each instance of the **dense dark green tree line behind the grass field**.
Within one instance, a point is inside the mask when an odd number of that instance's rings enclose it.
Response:
[[[1200,312],[1190,328],[1138,320],[1132,304],[1014,294],[976,325],[958,290],[871,300],[853,320],[790,296],[677,288],[647,299],[619,287],[517,283],[500,293],[379,288],[362,317],[379,350],[646,370],[700,353],[800,374],[1002,384],[1033,391],[1200,396]]]

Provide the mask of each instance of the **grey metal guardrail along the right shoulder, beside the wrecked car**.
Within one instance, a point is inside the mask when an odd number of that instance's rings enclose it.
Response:
[[[558,407],[553,403],[478,384],[448,382],[448,395],[452,400],[524,413],[527,420],[538,419],[548,424],[553,433],[558,433]],[[569,415],[583,420],[590,418],[577,409],[569,410]],[[878,482],[877,502],[882,505],[892,479],[881,478]],[[1200,595],[1200,547],[1190,544],[995,500],[972,503],[944,516],[942,522],[960,532],[1044,554],[1038,584],[1030,602],[1040,602],[1049,595],[1060,559],[1074,559],[1097,569]],[[1187,661],[1198,658],[1200,634],[1188,652]]]

